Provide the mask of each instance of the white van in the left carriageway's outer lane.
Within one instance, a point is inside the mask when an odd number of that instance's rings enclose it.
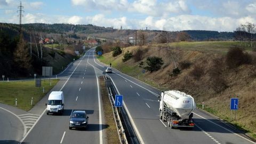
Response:
[[[64,111],[64,95],[62,91],[52,91],[49,95],[47,103],[46,114],[58,113],[63,114]]]

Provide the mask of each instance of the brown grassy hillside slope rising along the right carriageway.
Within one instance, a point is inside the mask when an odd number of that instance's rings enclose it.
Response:
[[[185,42],[143,46],[143,63],[151,56],[164,60],[162,69],[142,73],[141,61],[130,59],[122,62],[123,54],[112,57],[112,52],[103,54],[99,60],[161,90],[186,92],[196,100],[198,107],[205,103],[205,109],[226,121],[230,121],[230,98],[239,98],[239,110],[233,124],[246,130],[256,138],[256,54],[250,47],[243,47],[254,59],[250,65],[230,69],[226,64],[226,54],[236,42]],[[127,47],[123,53],[135,53],[138,47]],[[173,58],[171,57],[173,55]],[[175,60],[181,73],[173,76]],[[145,64],[142,66],[145,67]]]

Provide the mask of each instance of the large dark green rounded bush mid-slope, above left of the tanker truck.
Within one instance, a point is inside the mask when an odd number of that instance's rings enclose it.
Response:
[[[155,56],[148,57],[146,62],[148,66],[146,66],[145,69],[150,71],[150,73],[161,69],[162,65],[164,64],[164,61],[162,60],[162,58],[155,57]]]

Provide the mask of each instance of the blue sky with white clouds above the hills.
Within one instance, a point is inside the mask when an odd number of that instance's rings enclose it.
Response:
[[[123,29],[233,31],[256,23],[256,0],[22,0],[22,23]],[[0,22],[18,23],[18,0],[0,0]]]

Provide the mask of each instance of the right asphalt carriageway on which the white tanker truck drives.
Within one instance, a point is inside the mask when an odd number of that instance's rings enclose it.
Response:
[[[106,67],[96,59],[90,59],[89,62],[101,70]],[[119,94],[123,95],[140,143],[255,143],[198,109],[194,111],[196,126],[193,130],[166,127],[167,123],[159,120],[157,94],[161,91],[115,69],[113,71],[108,75],[113,79]]]

